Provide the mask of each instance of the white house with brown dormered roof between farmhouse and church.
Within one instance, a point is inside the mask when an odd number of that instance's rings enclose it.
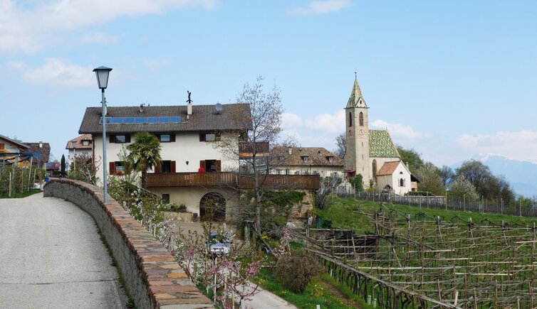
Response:
[[[271,153],[271,172],[278,175],[343,176],[343,160],[322,147],[275,147]]]

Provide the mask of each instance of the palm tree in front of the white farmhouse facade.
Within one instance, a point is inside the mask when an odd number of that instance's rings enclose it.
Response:
[[[128,158],[132,168],[142,172],[142,188],[145,188],[147,170],[160,164],[160,141],[153,134],[138,132],[127,150],[130,151]]]

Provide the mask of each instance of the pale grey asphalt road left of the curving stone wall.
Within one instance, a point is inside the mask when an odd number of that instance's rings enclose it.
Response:
[[[71,202],[0,199],[0,308],[125,308],[93,218]]]

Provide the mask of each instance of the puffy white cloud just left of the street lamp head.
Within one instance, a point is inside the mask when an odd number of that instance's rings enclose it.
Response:
[[[24,80],[38,85],[88,87],[95,84],[92,67],[71,65],[57,58],[47,58],[41,67],[31,68],[24,63],[8,63],[7,67],[21,72]]]

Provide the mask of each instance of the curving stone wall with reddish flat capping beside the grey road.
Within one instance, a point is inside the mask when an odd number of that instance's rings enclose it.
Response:
[[[174,257],[103,190],[77,180],[52,180],[44,196],[68,200],[88,212],[105,235],[137,308],[213,308]]]

